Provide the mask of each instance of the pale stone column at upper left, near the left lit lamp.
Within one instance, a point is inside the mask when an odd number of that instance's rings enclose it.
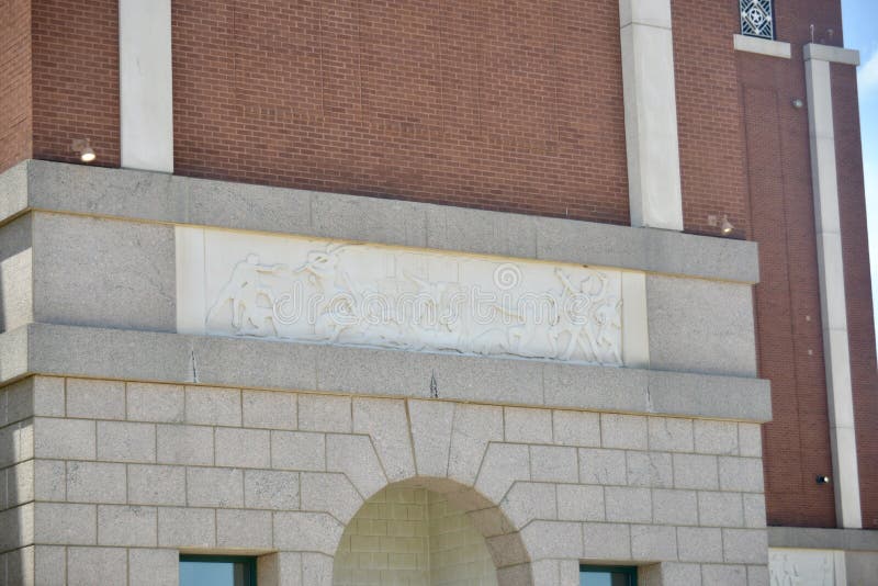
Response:
[[[173,172],[170,0],[119,0],[122,167]]]

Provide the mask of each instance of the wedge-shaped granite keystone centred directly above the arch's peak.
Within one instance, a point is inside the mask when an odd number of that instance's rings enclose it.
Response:
[[[408,416],[418,475],[444,478],[448,475],[454,404],[413,399],[408,402]]]

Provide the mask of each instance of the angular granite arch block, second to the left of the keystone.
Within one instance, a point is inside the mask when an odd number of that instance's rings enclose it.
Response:
[[[328,435],[326,469],[329,472],[344,472],[363,498],[369,498],[387,485],[387,477],[368,436]]]

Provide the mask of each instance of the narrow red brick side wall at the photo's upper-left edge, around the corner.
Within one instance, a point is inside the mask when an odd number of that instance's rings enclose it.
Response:
[[[0,0],[0,171],[31,157],[31,1]]]

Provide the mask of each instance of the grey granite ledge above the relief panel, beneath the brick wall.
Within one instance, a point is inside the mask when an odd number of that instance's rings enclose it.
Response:
[[[0,174],[0,222],[29,210],[758,281],[750,241],[42,160]]]

